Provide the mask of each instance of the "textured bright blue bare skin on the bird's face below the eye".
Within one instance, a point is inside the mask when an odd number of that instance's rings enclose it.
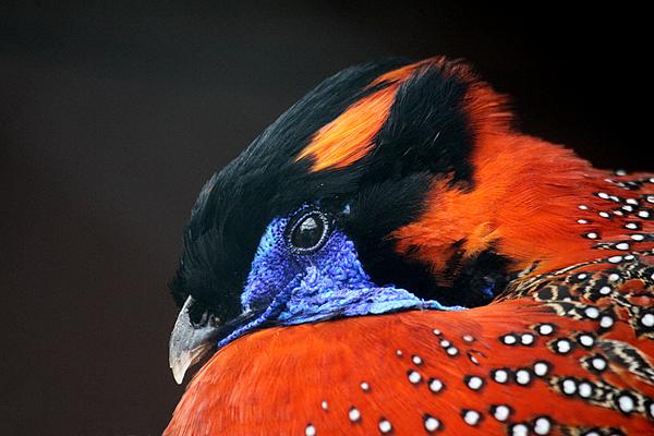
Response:
[[[407,308],[465,308],[422,300],[393,286],[378,287],[363,270],[354,243],[338,229],[315,253],[298,253],[286,233],[289,222],[277,218],[268,226],[241,295],[244,313],[261,315],[219,341],[218,348],[267,323],[291,326]]]

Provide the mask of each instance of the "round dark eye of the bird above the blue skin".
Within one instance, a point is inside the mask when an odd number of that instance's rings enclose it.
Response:
[[[313,254],[320,250],[329,232],[329,220],[318,210],[302,211],[291,220],[289,241],[298,254]]]

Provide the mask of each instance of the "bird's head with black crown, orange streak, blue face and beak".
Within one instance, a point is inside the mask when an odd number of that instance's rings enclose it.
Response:
[[[438,58],[353,66],[291,107],[193,207],[170,283],[178,383],[255,329],[496,298],[524,262],[489,203],[508,170],[485,175],[497,186],[477,171],[512,147],[504,104]]]

